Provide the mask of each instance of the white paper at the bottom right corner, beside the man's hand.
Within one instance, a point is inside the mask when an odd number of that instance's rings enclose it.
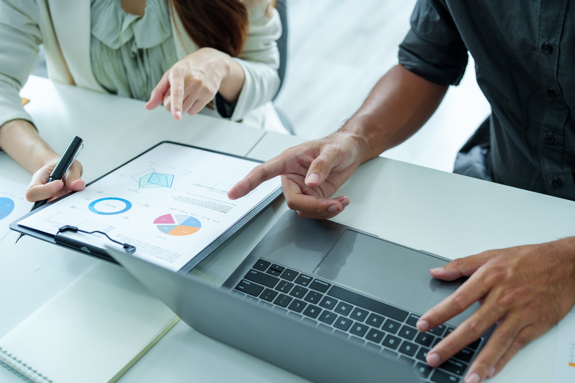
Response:
[[[575,310],[558,325],[553,383],[575,382]]]

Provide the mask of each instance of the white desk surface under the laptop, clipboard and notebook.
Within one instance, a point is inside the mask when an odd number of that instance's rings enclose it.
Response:
[[[62,150],[67,144],[64,141],[78,134],[90,146],[101,144],[99,147],[106,148],[101,156],[96,148],[87,150],[86,145],[82,159],[87,180],[162,140],[185,140],[260,160],[303,141],[277,133],[262,137],[261,130],[201,116],[189,118],[189,128],[183,130],[165,111],[151,115],[137,100],[93,94],[47,80],[32,82],[22,95],[32,98],[27,109],[48,142]],[[28,90],[30,93],[26,94]],[[102,112],[95,111],[95,106]],[[158,126],[166,129],[157,129]],[[131,142],[128,152],[119,152],[120,142],[127,138]],[[0,176],[26,183],[29,180],[29,175],[2,153],[0,169]],[[351,204],[334,220],[447,258],[575,235],[569,219],[575,216],[574,202],[388,158],[375,158],[362,165],[338,195],[350,197]],[[198,269],[221,284],[285,210],[285,203],[278,199]],[[11,292],[0,297],[2,312],[7,314],[0,315],[0,337],[94,262],[93,258],[33,238],[24,237],[18,246],[13,246],[16,237],[16,233],[11,233],[0,242],[0,281]],[[532,342],[492,381],[549,381],[555,336],[553,329]],[[120,382],[248,380],[305,381],[181,322]],[[0,381],[19,383],[20,379],[0,369]]]

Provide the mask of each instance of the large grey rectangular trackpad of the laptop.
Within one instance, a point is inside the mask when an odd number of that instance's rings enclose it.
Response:
[[[446,296],[440,281],[429,273],[445,264],[440,258],[347,229],[313,273],[423,313],[432,301]],[[454,286],[448,285],[446,290],[453,292]]]

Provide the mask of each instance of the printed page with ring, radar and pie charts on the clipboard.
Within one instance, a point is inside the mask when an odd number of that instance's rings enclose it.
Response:
[[[228,199],[257,165],[164,142],[19,224],[48,234],[65,225],[104,231],[136,246],[135,256],[177,271],[281,185],[276,177]],[[69,235],[102,248],[112,244],[101,234]]]

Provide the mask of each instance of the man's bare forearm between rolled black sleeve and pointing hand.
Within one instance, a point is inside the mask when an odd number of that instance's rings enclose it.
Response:
[[[339,132],[361,142],[362,162],[411,137],[434,114],[447,86],[432,83],[396,65],[371,90]]]

